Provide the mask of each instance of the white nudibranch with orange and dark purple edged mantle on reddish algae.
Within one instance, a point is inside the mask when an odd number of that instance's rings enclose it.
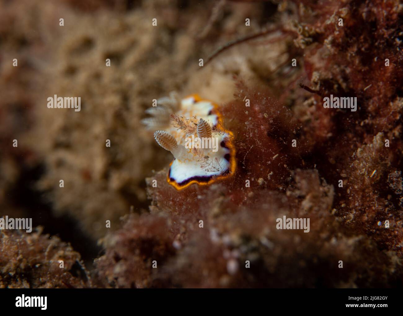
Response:
[[[233,134],[222,127],[218,106],[192,94],[178,100],[176,94],[156,100],[143,119],[154,130],[158,144],[170,151],[167,182],[177,190],[193,183],[206,185],[235,173]]]

